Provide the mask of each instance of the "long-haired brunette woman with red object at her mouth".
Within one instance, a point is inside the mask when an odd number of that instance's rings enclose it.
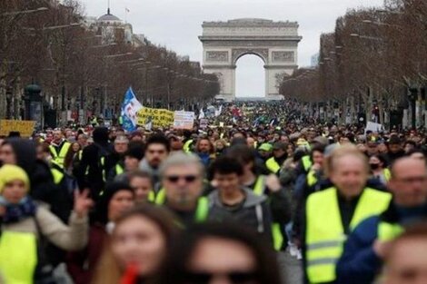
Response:
[[[127,211],[116,220],[93,283],[155,283],[176,234],[174,217],[162,208]]]

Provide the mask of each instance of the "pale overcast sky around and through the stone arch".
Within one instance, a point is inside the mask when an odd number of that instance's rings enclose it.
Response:
[[[80,0],[86,15],[106,13],[108,0]],[[296,21],[303,36],[299,44],[298,64],[308,66],[319,51],[320,34],[332,32],[335,20],[347,9],[382,5],[383,0],[110,0],[111,12],[127,22],[134,34],[145,34],[154,44],[166,45],[177,54],[202,61],[203,48],[197,36],[204,21],[236,18],[265,18]],[[240,95],[263,93],[261,59],[243,56],[237,63],[237,89]]]

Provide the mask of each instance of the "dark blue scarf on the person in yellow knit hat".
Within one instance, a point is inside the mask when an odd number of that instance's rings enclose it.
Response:
[[[16,223],[25,218],[34,217],[37,208],[35,202],[28,197],[23,198],[17,204],[11,204],[0,196],[0,206],[5,207],[5,215],[3,216],[3,223],[5,224]]]

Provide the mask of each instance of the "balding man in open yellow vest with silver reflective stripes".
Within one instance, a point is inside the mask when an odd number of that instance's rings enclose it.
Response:
[[[304,211],[305,283],[336,283],[336,263],[346,236],[364,219],[385,211],[392,195],[366,187],[366,156],[355,146],[335,149],[328,175],[333,187],[312,193]]]

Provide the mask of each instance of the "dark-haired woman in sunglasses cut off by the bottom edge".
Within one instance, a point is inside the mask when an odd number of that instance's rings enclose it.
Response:
[[[204,223],[174,242],[159,284],[282,284],[276,256],[252,230]]]

